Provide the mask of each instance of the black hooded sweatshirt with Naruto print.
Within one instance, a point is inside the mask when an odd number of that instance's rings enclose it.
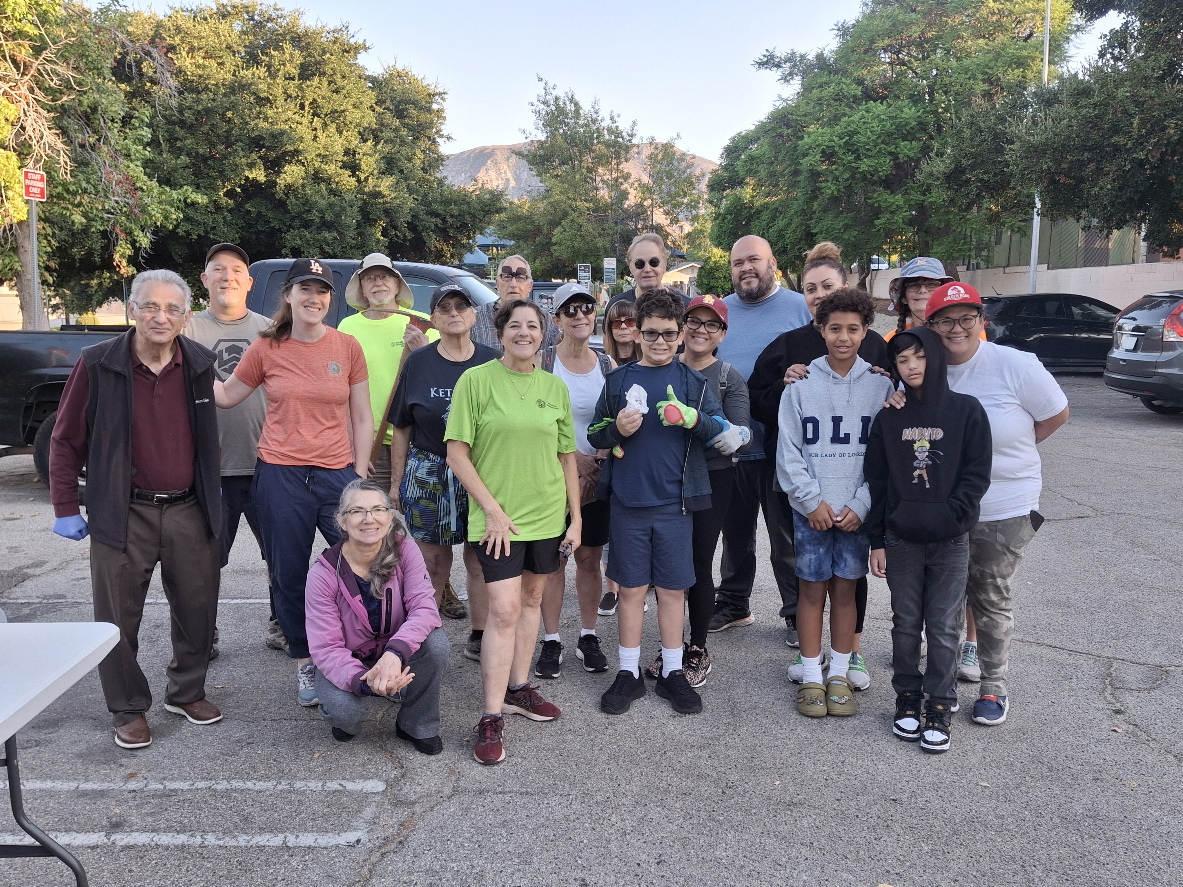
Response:
[[[946,542],[977,523],[978,503],[990,486],[990,420],[976,397],[949,390],[940,337],[917,326],[888,343],[890,364],[917,343],[924,349],[924,383],[907,388],[903,409],[875,416],[864,472],[871,487],[865,519],[872,549],[885,537]]]

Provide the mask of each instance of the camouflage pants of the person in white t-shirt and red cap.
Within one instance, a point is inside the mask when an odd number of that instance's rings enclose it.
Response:
[[[982,695],[1007,695],[1010,639],[1015,633],[1010,580],[1023,559],[1023,549],[1034,536],[1029,514],[983,520],[969,531],[965,602],[974,608],[974,624],[977,627]]]

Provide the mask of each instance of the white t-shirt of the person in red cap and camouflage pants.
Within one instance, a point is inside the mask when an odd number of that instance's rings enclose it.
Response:
[[[1033,354],[983,342],[965,363],[949,365],[949,387],[977,397],[990,419],[994,466],[980,520],[1006,520],[1039,507],[1043,475],[1035,422],[1062,412],[1068,399]]]

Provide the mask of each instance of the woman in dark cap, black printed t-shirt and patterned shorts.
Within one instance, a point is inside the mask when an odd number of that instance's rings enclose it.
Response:
[[[389,420],[390,499],[406,517],[411,538],[419,545],[435,588],[440,611],[447,611],[455,593],[452,548],[464,545],[468,532],[468,493],[447,467],[444,429],[452,408],[452,389],[471,367],[496,361],[492,348],[468,337],[477,321],[472,299],[458,284],[442,284],[432,293],[432,324],[440,341],[416,349],[399,374]],[[472,632],[464,645],[467,659],[480,661],[480,643],[489,614],[489,594],[472,546],[464,546],[467,572],[468,617]],[[464,619],[463,613],[457,616]]]

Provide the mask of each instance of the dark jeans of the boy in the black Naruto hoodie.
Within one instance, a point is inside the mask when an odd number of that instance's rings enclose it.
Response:
[[[927,693],[932,703],[957,701],[961,614],[969,577],[969,533],[948,542],[907,542],[887,533],[891,589],[892,687]],[[929,665],[920,675],[920,629],[929,640]]]

